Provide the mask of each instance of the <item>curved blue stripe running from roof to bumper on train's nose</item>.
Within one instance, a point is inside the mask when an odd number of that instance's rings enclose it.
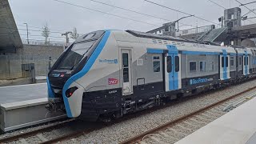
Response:
[[[68,102],[68,99],[66,98],[66,90],[70,87],[70,85],[78,80],[78,78],[82,78],[82,76],[84,76],[91,68],[91,66],[93,66],[94,62],[96,61],[96,59],[98,58],[98,55],[101,54],[104,46],[106,45],[106,41],[107,39],[110,37],[110,30],[106,30],[101,42],[99,42],[98,46],[96,47],[96,49],[94,50],[93,54],[91,54],[90,58],[88,59],[88,61],[86,62],[86,65],[82,68],[81,71],[79,71],[77,74],[74,74],[71,78],[69,78],[62,90],[62,97],[64,100],[64,104],[66,107],[66,115],[68,117],[73,117],[71,110],[70,110],[70,104]]]

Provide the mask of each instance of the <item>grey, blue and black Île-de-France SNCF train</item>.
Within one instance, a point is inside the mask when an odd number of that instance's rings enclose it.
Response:
[[[46,108],[110,121],[255,76],[255,48],[98,30],[76,39],[51,67]]]

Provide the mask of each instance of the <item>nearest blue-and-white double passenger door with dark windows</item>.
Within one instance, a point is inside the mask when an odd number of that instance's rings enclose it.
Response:
[[[178,50],[175,46],[167,47],[169,52],[165,58],[166,91],[178,90],[181,88],[181,55],[178,54]]]

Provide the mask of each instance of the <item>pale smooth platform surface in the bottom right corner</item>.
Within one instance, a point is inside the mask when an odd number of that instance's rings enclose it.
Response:
[[[256,98],[253,98],[175,144],[254,144],[255,110]]]

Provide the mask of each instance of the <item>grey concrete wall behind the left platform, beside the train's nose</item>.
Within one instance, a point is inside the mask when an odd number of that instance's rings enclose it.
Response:
[[[46,75],[49,63],[52,66],[62,52],[62,46],[24,45],[16,54],[0,55],[0,79],[30,78],[22,72],[22,64],[28,63],[34,63],[36,76]]]

